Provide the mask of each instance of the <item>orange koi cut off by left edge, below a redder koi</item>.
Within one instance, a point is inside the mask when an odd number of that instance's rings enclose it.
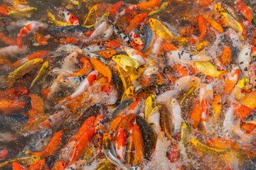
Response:
[[[13,111],[17,111],[20,108],[24,108],[25,103],[23,101],[9,101],[9,100],[0,100],[0,111],[4,114],[9,114]]]

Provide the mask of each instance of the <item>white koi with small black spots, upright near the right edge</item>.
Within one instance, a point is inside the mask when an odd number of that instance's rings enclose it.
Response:
[[[249,44],[245,44],[238,55],[238,66],[245,77],[249,77],[250,69],[250,53],[252,47]]]

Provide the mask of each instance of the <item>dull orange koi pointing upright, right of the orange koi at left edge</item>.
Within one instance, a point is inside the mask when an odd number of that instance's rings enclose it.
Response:
[[[28,118],[28,126],[33,126],[36,119],[38,119],[45,110],[45,103],[43,102],[43,98],[35,95],[35,94],[29,94],[28,96],[31,97],[31,111],[29,113]]]

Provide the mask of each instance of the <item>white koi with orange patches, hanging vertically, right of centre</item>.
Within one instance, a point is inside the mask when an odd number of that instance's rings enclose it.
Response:
[[[206,117],[209,114],[210,101],[213,99],[213,84],[200,84],[199,100],[201,104],[201,120],[203,128],[207,131]]]

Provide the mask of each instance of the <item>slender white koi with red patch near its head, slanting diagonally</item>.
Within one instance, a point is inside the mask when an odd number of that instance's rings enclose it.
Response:
[[[85,92],[85,90],[87,90],[90,86],[92,86],[93,81],[97,79],[97,74],[98,74],[97,70],[90,72],[90,74],[86,77],[86,79],[82,81],[80,86],[78,86],[78,89],[76,89],[76,91],[73,94],[68,96],[68,98],[65,98],[63,101],[60,101],[60,103],[58,103],[54,108],[58,109],[65,101],[70,101],[72,98],[76,98],[80,96],[83,92]]]

